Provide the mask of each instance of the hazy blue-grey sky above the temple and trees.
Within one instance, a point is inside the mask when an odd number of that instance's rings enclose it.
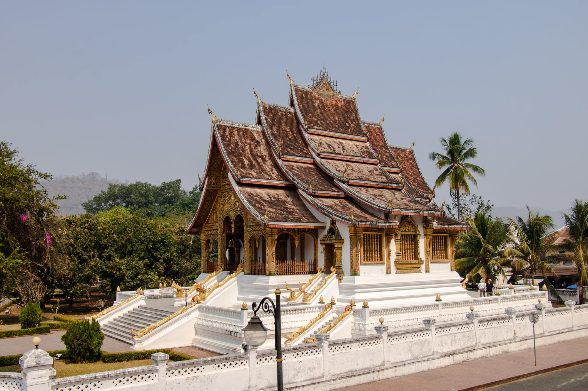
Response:
[[[213,4],[214,3],[214,4]],[[202,175],[211,121],[286,105],[323,65],[391,144],[473,137],[475,193],[588,197],[588,2],[0,2],[0,138],[55,175]],[[437,191],[437,202],[448,197]]]

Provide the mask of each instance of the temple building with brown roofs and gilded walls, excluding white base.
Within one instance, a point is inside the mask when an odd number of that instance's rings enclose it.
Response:
[[[383,121],[362,120],[325,68],[290,80],[288,106],[257,97],[255,124],[212,116],[199,234],[203,271],[355,277],[446,273],[467,225],[433,201],[413,146],[387,143]],[[212,255],[212,257],[211,257]],[[454,274],[454,278],[459,278]]]

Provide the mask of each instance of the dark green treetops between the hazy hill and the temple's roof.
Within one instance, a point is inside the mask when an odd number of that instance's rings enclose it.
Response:
[[[146,182],[108,185],[92,200],[82,203],[86,212],[96,214],[113,207],[128,208],[147,217],[165,217],[178,212],[194,213],[198,208],[201,191],[194,187],[189,193],[182,189],[182,180],[162,182],[159,186]]]

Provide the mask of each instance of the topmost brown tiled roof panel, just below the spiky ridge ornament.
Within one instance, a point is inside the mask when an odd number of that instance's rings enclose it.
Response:
[[[302,86],[296,86],[293,91],[300,114],[308,119],[309,128],[365,136],[355,100],[341,96],[325,100]]]

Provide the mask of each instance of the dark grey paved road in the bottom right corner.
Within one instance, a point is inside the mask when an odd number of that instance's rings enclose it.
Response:
[[[488,391],[567,391],[588,390],[588,363],[555,370],[517,380],[500,386],[485,388]]]

